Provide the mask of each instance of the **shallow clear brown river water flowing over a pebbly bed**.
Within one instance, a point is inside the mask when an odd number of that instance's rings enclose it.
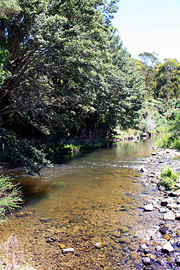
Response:
[[[127,141],[69,155],[39,177],[13,172],[26,203],[0,227],[1,239],[16,235],[24,262],[36,269],[143,269],[139,241],[153,234],[159,214],[143,212],[156,188],[143,184],[138,169],[153,145]]]

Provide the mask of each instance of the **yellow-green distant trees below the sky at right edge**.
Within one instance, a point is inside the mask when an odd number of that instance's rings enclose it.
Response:
[[[136,65],[143,75],[146,95],[170,100],[180,95],[180,63],[176,59],[158,61],[158,54],[141,53]]]

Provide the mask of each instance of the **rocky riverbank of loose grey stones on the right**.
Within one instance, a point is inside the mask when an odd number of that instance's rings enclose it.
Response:
[[[176,150],[153,148],[150,161],[140,169],[141,179],[145,185],[157,188],[160,172],[165,167],[179,171],[180,153]],[[177,182],[180,186],[180,179]],[[158,198],[150,198],[144,211],[160,212],[160,220],[155,225],[155,232],[139,242],[139,255],[144,269],[179,269],[180,266],[180,190],[166,191],[158,188]],[[155,267],[155,268],[154,268]],[[169,268],[167,268],[169,269]]]

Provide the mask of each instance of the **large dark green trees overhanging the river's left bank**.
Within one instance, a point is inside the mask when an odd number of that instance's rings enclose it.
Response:
[[[115,0],[0,4],[0,141],[15,163],[44,163],[34,138],[136,123],[144,86],[111,25],[115,11]]]

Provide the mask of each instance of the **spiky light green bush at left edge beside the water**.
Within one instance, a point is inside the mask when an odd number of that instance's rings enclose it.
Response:
[[[0,221],[22,203],[20,189],[13,184],[11,177],[0,176]]]

